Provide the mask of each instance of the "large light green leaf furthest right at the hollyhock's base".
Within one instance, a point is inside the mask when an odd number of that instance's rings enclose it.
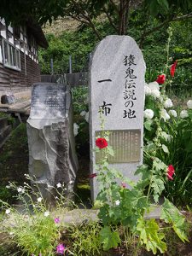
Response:
[[[167,199],[162,205],[160,219],[164,219],[166,223],[172,224],[172,229],[183,242],[189,241],[185,234],[187,229],[185,218],[181,212],[178,211],[177,207]]]

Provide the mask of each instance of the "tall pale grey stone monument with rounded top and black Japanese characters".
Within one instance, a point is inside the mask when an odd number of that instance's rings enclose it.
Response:
[[[133,38],[108,36],[97,45],[90,64],[90,173],[101,154],[93,151],[101,134],[99,110],[105,117],[105,131],[114,157],[110,166],[125,177],[134,176],[143,164],[143,109],[145,62]],[[91,197],[96,200],[98,184],[91,179]]]

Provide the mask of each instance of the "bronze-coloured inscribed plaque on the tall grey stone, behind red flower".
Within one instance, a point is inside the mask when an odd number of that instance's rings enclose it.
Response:
[[[101,137],[102,131],[96,131],[96,137]],[[114,156],[108,158],[108,163],[130,163],[141,160],[141,130],[109,131],[109,145]],[[96,152],[96,164],[103,158],[103,150]]]

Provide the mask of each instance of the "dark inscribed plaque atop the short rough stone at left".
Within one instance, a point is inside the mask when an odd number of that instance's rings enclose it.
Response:
[[[62,119],[66,110],[66,86],[35,84],[32,88],[32,119]]]

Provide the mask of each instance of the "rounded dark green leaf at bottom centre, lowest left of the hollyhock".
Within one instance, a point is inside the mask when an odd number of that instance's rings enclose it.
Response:
[[[103,249],[108,251],[110,248],[118,247],[120,243],[119,233],[112,231],[109,226],[105,226],[100,231],[100,242],[103,244]]]

